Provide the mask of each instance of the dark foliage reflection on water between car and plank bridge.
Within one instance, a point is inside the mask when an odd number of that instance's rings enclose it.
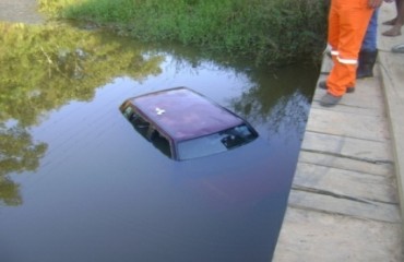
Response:
[[[270,136],[285,130],[294,130],[301,135],[313,94],[313,90],[308,87],[314,86],[318,72],[308,73],[299,67],[250,74],[253,86],[230,104],[251,123],[266,123]]]

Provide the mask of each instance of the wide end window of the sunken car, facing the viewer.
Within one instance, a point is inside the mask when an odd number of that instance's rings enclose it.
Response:
[[[247,124],[240,124],[218,133],[178,143],[178,158],[185,160],[217,154],[247,144],[257,136],[258,134]]]

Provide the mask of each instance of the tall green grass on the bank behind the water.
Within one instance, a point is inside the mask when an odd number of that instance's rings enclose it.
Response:
[[[40,0],[66,19],[119,27],[146,41],[175,40],[257,63],[285,64],[319,55],[326,1]]]

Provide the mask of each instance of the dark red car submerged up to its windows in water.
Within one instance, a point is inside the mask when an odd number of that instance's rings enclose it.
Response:
[[[175,160],[226,152],[258,138],[243,118],[182,86],[129,98],[120,111]]]

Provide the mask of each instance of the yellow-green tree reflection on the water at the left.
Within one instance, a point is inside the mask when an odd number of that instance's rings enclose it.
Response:
[[[91,100],[117,76],[159,74],[163,58],[144,51],[102,32],[0,23],[0,201],[21,204],[19,184],[8,175],[35,171],[47,150],[28,128],[70,100]]]

